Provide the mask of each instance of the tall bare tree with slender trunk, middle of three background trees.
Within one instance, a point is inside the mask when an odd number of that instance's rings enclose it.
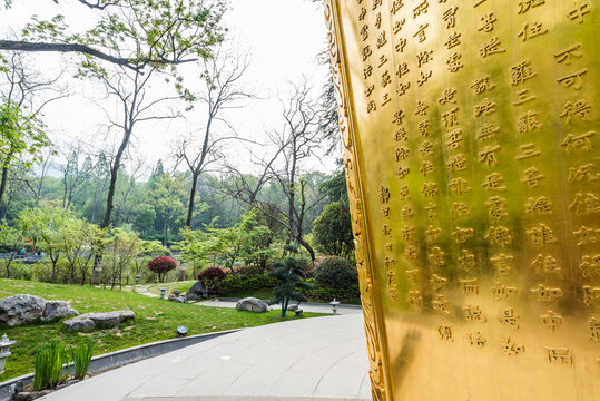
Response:
[[[204,61],[204,92],[198,100],[206,107],[206,126],[196,137],[181,138],[176,145],[176,158],[185,162],[191,173],[191,188],[187,207],[186,226],[191,224],[198,177],[210,164],[224,157],[222,148],[225,141],[239,139],[235,129],[224,118],[223,111],[239,107],[239,100],[253,98],[250,91],[239,88],[239,79],[248,68],[247,56],[224,52],[218,47],[213,58]],[[216,123],[225,125],[233,135],[215,133]]]

